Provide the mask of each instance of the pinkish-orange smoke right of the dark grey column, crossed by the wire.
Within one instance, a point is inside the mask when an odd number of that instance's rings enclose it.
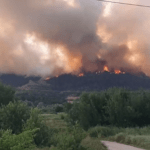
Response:
[[[150,5],[148,0],[120,2]],[[149,76],[150,10],[117,4],[108,6],[109,15],[101,16],[99,21],[99,28],[103,29],[100,31],[104,32],[103,38],[107,41],[105,50],[108,53],[104,57],[108,66],[133,73],[144,72]]]

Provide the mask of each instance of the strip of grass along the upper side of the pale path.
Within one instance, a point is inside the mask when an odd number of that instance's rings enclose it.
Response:
[[[150,150],[150,126],[144,128],[117,128],[101,127],[91,128],[89,135],[106,141],[115,141],[126,145]]]

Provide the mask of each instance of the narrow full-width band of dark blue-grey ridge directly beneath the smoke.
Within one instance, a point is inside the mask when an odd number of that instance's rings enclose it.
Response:
[[[139,88],[150,89],[150,78],[147,76],[136,76],[129,73],[114,74],[104,72],[100,74],[87,73],[82,77],[71,74],[64,74],[53,77],[47,81],[41,81],[40,77],[25,77],[12,74],[0,76],[2,83],[13,87],[28,89],[49,88],[54,91],[93,91],[104,90],[110,87],[125,87],[132,90]],[[30,82],[29,82],[30,81]],[[33,81],[33,82],[31,82]]]

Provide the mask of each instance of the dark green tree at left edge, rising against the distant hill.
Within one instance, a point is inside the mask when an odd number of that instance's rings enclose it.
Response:
[[[7,105],[9,102],[14,100],[15,90],[10,87],[3,85],[0,82],[0,106]]]

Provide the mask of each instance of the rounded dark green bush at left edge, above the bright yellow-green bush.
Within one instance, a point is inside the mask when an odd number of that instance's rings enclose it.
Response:
[[[21,101],[10,102],[0,108],[0,116],[0,128],[11,129],[12,133],[18,134],[30,117],[30,108]]]

